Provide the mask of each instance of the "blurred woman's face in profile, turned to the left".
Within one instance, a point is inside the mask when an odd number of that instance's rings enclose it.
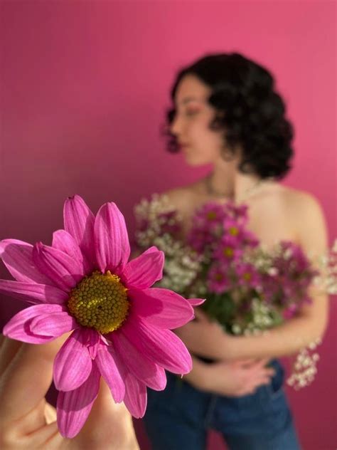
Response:
[[[209,128],[215,115],[215,108],[207,102],[210,93],[210,87],[195,75],[182,78],[176,90],[176,114],[170,130],[186,162],[193,166],[215,162],[224,145],[223,132]]]

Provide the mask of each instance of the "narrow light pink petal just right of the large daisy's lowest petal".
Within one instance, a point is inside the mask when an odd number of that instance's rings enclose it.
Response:
[[[125,384],[122,380],[119,370],[117,369],[116,362],[112,353],[108,351],[107,345],[100,344],[97,350],[97,357],[95,359],[100,374],[107,382],[112,397],[116,403],[120,403],[124,399]]]

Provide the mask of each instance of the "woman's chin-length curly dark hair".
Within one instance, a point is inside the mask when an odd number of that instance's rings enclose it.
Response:
[[[224,131],[233,155],[237,145],[242,147],[240,171],[282,179],[291,169],[294,128],[285,117],[284,100],[274,90],[272,74],[240,53],[206,55],[178,72],[171,88],[173,104],[185,75],[195,75],[212,88],[208,103],[216,113],[210,129]],[[169,138],[169,152],[178,152],[176,137],[170,132],[175,113],[174,107],[167,110],[162,128]]]

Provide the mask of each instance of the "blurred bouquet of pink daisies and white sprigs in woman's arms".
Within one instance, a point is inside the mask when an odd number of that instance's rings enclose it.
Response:
[[[280,325],[311,302],[311,283],[325,285],[328,293],[336,289],[336,252],[325,258],[328,270],[323,273],[291,241],[265,248],[247,229],[246,205],[204,204],[193,216],[186,242],[181,216],[167,197],[143,199],[135,216],[139,247],[156,245],[166,254],[160,285],[186,298],[207,298],[203,310],[227,333],[261,333]],[[296,360],[297,372],[299,362],[305,362],[305,384],[314,375],[318,355],[309,359],[302,352]],[[303,380],[293,377],[292,384],[304,384]]]

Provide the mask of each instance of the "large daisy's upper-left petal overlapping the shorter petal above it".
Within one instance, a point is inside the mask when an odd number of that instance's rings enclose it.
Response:
[[[41,242],[33,247],[33,261],[40,271],[63,291],[70,291],[84,276],[80,261]]]

